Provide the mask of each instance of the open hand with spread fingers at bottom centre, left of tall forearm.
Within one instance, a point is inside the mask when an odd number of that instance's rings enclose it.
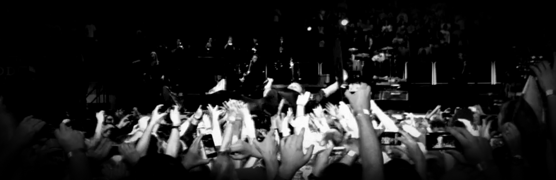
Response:
[[[281,178],[290,179],[295,172],[304,166],[311,159],[312,151],[315,145],[311,145],[307,149],[307,153],[303,153],[303,140],[305,128],[297,135],[290,135],[282,138],[280,142],[280,176]]]

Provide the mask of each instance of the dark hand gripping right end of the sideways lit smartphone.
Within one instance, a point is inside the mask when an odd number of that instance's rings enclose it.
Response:
[[[458,139],[463,147],[463,155],[467,163],[479,164],[481,162],[490,162],[493,160],[492,148],[485,138],[475,137],[464,128],[447,128],[446,130]],[[450,153],[450,151],[448,151],[448,153]]]

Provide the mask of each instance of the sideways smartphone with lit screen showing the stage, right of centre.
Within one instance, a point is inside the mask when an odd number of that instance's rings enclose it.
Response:
[[[427,133],[426,150],[460,149],[461,145],[453,135],[447,132]]]

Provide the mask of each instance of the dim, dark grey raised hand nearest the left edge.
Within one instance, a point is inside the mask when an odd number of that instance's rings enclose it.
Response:
[[[33,116],[27,116],[26,118],[19,123],[16,128],[16,132],[14,132],[13,140],[16,142],[21,143],[22,145],[26,145],[33,139],[34,135],[39,132],[39,130],[44,127],[46,123],[40,119],[34,119]]]

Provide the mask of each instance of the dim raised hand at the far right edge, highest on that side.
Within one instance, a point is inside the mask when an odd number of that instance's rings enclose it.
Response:
[[[535,66],[531,66],[537,76],[540,88],[543,91],[556,90],[556,66],[550,67],[550,62],[543,61]]]

